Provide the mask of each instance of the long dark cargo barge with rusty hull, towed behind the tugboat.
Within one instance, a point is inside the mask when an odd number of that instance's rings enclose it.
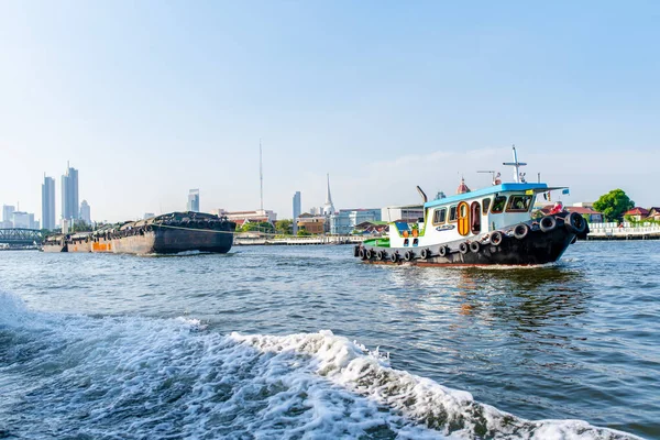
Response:
[[[170,212],[140,221],[108,224],[94,232],[46,238],[44,252],[176,254],[227,253],[237,223],[202,212]]]

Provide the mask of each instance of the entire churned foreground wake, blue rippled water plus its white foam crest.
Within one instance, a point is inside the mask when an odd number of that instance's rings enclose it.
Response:
[[[32,312],[0,293],[7,437],[624,439],[525,420],[324,330],[213,332],[190,318]]]

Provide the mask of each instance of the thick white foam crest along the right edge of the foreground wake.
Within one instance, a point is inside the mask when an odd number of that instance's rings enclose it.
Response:
[[[462,438],[624,439],[626,432],[598,428],[582,420],[525,420],[475,402],[468,392],[444,387],[428,378],[394,370],[380,353],[331,331],[311,334],[241,336],[231,338],[266,353],[311,356],[308,366],[341,385],[407,418]]]

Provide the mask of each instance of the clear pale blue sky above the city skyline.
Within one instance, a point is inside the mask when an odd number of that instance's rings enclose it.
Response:
[[[292,217],[510,179],[659,206],[657,1],[0,0],[0,204]]]

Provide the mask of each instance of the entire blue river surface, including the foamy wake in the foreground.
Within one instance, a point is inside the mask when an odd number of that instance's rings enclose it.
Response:
[[[660,438],[659,267],[0,252],[0,438]]]

